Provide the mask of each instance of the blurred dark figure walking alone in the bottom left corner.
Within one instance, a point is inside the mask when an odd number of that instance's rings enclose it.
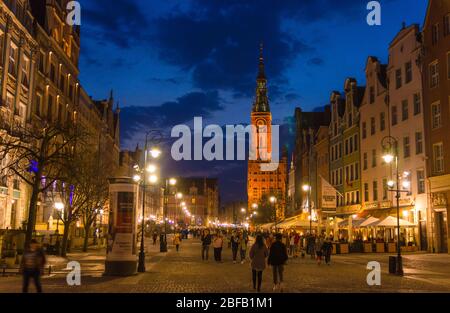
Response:
[[[41,275],[44,272],[45,263],[44,251],[35,239],[31,240],[30,246],[23,252],[20,264],[20,271],[23,275],[22,292],[28,292],[30,278],[33,278],[37,292],[42,292]]]

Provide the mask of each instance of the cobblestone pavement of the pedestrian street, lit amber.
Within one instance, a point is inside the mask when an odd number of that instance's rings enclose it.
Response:
[[[150,240],[149,240],[150,241]],[[170,242],[170,241],[169,241]],[[73,253],[81,264],[81,286],[67,286],[66,273],[43,278],[45,292],[252,292],[249,261],[233,264],[231,249],[224,248],[223,263],[202,261],[200,242],[183,240],[181,250],[148,245],[147,272],[131,277],[104,277],[104,252]],[[348,254],[332,257],[331,266],[318,266],[309,257],[290,259],[285,267],[285,292],[450,292],[450,256],[404,255],[404,277],[388,274],[388,254]],[[369,261],[381,264],[381,286],[368,286]],[[271,268],[264,271],[263,292],[272,292]],[[18,276],[1,277],[0,292],[20,292]],[[32,290],[34,290],[32,288]]]

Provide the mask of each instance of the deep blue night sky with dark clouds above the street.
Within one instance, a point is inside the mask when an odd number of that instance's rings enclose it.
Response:
[[[123,149],[146,129],[248,124],[259,44],[264,43],[274,124],[292,148],[295,107],[314,110],[347,77],[364,85],[367,56],[387,62],[402,22],[423,24],[427,1],[381,0],[382,25],[366,23],[367,0],[82,0],[80,79],[121,106]],[[170,148],[169,148],[170,149]],[[163,174],[213,176],[221,199],[246,198],[245,161],[170,160]]]

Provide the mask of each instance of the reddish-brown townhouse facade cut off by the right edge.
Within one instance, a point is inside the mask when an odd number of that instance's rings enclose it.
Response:
[[[430,0],[423,25],[422,86],[431,250],[450,249],[450,2]]]

